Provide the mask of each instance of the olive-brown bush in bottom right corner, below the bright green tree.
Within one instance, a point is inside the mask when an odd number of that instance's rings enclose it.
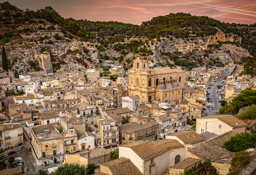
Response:
[[[252,158],[249,152],[240,151],[234,154],[232,160],[230,161],[232,172],[240,174],[243,169],[251,163]]]

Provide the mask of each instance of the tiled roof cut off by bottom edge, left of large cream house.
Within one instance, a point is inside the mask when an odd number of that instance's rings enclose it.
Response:
[[[108,167],[113,175],[142,175],[138,168],[133,165],[129,159],[118,158],[100,164],[100,166]]]

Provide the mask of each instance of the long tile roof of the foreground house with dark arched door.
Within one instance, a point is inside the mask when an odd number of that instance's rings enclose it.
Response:
[[[184,146],[177,140],[164,139],[160,141],[144,141],[144,142],[133,142],[122,145],[120,147],[131,148],[142,160],[147,161],[164,152],[175,149],[183,148]]]

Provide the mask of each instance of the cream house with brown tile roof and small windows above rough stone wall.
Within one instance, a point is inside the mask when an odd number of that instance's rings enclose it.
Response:
[[[215,115],[197,118],[196,126],[198,134],[209,131],[220,135],[232,131],[233,135],[235,135],[236,133],[244,132],[247,124],[233,115]]]

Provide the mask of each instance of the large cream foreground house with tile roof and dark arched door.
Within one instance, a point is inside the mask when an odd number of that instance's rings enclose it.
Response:
[[[129,158],[142,174],[162,175],[186,157],[177,140],[133,142],[119,146],[119,158]]]

